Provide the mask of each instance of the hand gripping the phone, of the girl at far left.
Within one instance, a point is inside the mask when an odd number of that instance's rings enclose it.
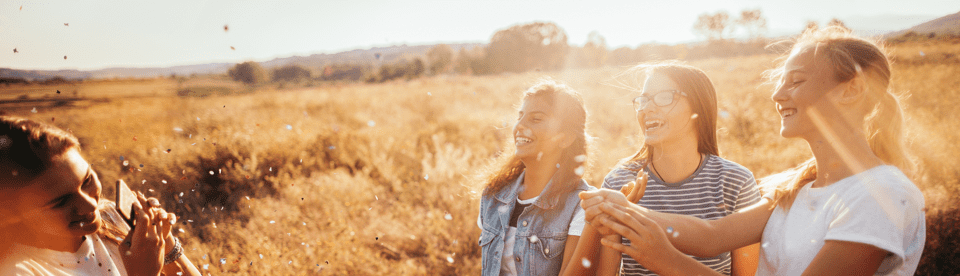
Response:
[[[161,217],[159,211],[162,210],[159,210],[156,199],[147,200],[143,194],[137,194],[138,202],[133,205],[137,214],[136,225],[120,243],[121,259],[128,275],[160,275],[166,253],[163,237],[170,232],[170,224]]]

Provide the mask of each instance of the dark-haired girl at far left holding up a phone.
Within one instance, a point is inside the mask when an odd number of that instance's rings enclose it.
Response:
[[[200,275],[142,194],[130,230],[72,134],[0,116],[0,275]]]

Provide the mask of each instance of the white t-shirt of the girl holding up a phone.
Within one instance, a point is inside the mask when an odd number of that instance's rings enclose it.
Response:
[[[127,275],[119,248],[97,234],[86,236],[77,252],[14,244],[0,260],[0,275]]]

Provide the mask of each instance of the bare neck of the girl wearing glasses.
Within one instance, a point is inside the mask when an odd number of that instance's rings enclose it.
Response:
[[[661,180],[675,183],[693,175],[700,167],[700,158],[696,140],[692,143],[654,145],[650,165]]]

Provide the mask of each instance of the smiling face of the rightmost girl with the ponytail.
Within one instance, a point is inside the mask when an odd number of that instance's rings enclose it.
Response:
[[[811,45],[798,48],[787,59],[780,85],[771,97],[780,114],[781,136],[814,139],[818,127],[841,118],[830,98],[843,86],[824,56],[817,55]]]

